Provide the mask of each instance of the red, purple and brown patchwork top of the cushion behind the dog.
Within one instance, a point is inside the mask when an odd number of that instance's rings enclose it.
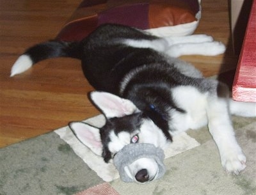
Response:
[[[104,23],[150,29],[196,20],[198,0],[84,0],[56,39],[81,40]]]

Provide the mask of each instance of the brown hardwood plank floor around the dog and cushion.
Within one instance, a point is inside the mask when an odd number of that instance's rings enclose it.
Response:
[[[29,46],[54,38],[80,2],[0,0],[0,147],[99,114],[86,96],[93,88],[84,79],[77,59],[45,60],[24,74],[10,77],[17,57]],[[195,33],[212,35],[228,45],[227,1],[202,1],[202,19]],[[205,76],[232,70],[237,62],[230,49],[216,57],[182,59]]]

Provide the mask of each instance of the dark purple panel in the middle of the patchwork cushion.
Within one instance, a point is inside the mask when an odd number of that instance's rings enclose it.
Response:
[[[104,23],[124,24],[148,29],[148,3],[127,4],[99,13],[98,25]]]

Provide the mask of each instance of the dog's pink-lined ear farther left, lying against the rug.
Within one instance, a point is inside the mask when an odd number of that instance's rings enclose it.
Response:
[[[69,127],[81,143],[90,148],[93,153],[102,155],[102,143],[98,128],[82,122],[71,122]]]

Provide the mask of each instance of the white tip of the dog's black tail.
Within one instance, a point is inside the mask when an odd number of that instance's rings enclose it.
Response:
[[[33,61],[31,60],[31,58],[28,55],[24,54],[24,55],[20,56],[17,59],[17,61],[15,61],[14,65],[12,66],[10,76],[13,77],[14,75],[25,72],[32,65],[33,65]]]

